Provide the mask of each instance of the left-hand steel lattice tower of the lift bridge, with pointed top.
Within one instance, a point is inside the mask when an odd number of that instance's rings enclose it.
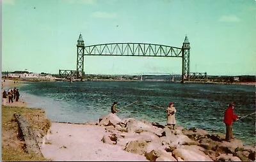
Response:
[[[76,59],[76,78],[84,78],[84,40],[83,36],[80,33],[77,40],[77,59]]]

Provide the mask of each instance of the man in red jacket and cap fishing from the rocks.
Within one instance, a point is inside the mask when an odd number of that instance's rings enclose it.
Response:
[[[225,140],[227,142],[230,142],[230,138],[234,138],[233,137],[233,133],[232,133],[232,123],[233,121],[237,121],[241,116],[234,114],[234,103],[230,103],[229,107],[227,108],[227,110],[225,111],[224,114],[224,121],[226,124],[226,138]]]

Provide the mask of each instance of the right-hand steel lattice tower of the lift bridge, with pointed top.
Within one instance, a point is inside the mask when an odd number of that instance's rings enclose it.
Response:
[[[184,83],[184,80],[189,80],[189,55],[190,43],[188,36],[186,36],[182,45],[182,83]]]

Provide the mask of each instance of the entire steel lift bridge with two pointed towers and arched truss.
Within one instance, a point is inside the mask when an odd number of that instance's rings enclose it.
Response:
[[[80,33],[77,40],[76,70],[59,70],[60,77],[77,78],[83,80],[84,56],[106,55],[106,56],[135,56],[135,57],[180,57],[182,58],[181,82],[193,80],[207,80],[207,73],[191,73],[189,71],[190,43],[188,36],[182,47],[171,47],[168,45],[157,45],[152,43],[105,43],[99,45],[84,46],[83,36]]]

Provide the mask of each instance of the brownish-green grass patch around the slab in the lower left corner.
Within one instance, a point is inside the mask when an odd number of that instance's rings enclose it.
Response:
[[[21,114],[29,122],[36,138],[46,135],[51,121],[40,108],[7,107],[2,105],[2,160],[3,161],[51,161],[40,154],[24,151],[24,140],[18,136],[18,124],[13,114]],[[39,141],[39,140],[38,140]]]

